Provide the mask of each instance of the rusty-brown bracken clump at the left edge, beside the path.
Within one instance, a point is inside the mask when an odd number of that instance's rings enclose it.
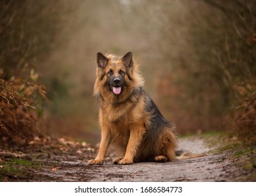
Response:
[[[30,80],[0,79],[0,144],[25,145],[41,135],[39,115],[46,99],[43,85]]]

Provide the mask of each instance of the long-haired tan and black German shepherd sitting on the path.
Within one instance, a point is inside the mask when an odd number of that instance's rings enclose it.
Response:
[[[97,53],[94,95],[98,99],[101,145],[89,165],[101,165],[110,144],[119,156],[113,163],[176,160],[175,127],[143,90],[132,52],[123,57]]]

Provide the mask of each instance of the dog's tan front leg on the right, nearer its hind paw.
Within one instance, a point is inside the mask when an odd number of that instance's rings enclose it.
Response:
[[[130,137],[127,145],[127,150],[124,158],[118,162],[120,165],[133,164],[134,156],[136,155],[137,149],[143,139],[143,134],[146,132],[146,128],[143,123],[138,123],[132,126],[130,130]]]

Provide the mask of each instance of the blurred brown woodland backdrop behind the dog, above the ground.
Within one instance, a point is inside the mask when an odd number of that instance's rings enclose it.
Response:
[[[255,139],[253,0],[3,0],[0,17],[1,141],[44,130],[98,142],[96,52],[128,51],[179,134],[233,130]],[[23,114],[11,118],[11,108]]]

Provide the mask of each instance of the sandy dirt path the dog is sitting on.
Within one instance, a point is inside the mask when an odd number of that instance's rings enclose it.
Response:
[[[234,172],[237,169],[226,153],[212,153],[203,139],[180,139],[179,147],[206,155],[177,162],[143,162],[124,166],[113,165],[110,160],[105,165],[89,166],[84,157],[52,155],[53,162],[50,160],[48,163],[53,166],[52,171],[46,169],[37,175],[42,177],[40,181],[234,181],[242,175]]]

